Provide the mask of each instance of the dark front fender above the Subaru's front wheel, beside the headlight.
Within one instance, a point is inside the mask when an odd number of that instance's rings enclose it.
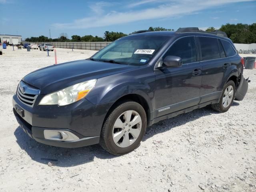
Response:
[[[154,71],[150,66],[122,72],[98,79],[96,86],[86,96],[93,104],[113,104],[122,96],[138,94],[148,103],[150,112],[153,111]]]

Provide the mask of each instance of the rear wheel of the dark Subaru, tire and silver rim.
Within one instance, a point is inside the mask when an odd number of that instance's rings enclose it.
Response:
[[[229,93],[228,93],[228,88],[231,88]],[[232,90],[233,90],[233,94],[231,97],[231,95],[229,95],[229,94],[231,94]],[[228,95],[226,95],[226,93],[228,93]],[[235,94],[236,94],[236,85],[235,85],[234,81],[230,80],[225,84],[224,89],[222,90],[220,102],[212,104],[212,109],[215,111],[218,111],[218,112],[228,111],[232,102],[234,101]]]

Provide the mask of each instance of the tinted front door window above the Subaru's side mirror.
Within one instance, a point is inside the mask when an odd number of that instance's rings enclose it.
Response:
[[[196,62],[196,44],[193,36],[177,40],[164,54],[166,56],[178,56],[182,58],[183,64]]]

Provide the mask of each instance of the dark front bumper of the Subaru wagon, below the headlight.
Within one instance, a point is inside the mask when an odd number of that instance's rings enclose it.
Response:
[[[33,107],[13,96],[14,115],[20,127],[34,140],[51,146],[75,148],[99,143],[100,131],[107,111],[105,105],[93,105],[83,99],[68,106],[39,106],[43,96],[38,95]],[[22,114],[15,110],[19,106]],[[44,130],[68,131],[79,139],[58,141],[44,138]]]

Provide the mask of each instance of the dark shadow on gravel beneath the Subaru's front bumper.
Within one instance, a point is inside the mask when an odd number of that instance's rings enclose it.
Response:
[[[16,128],[14,135],[20,148],[25,150],[32,160],[42,164],[51,162],[54,166],[72,167],[92,162],[94,158],[117,157],[106,152],[99,144],[80,148],[61,148],[41,144],[30,138],[20,126]]]

